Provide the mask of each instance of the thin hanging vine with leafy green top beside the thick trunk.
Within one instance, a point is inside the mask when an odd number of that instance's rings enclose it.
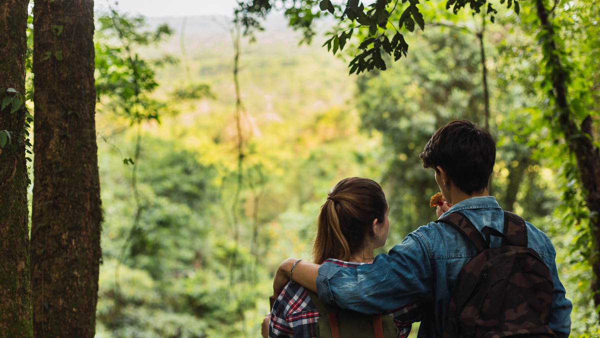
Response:
[[[146,206],[142,204],[142,198],[138,189],[137,169],[139,166],[140,153],[142,151],[142,130],[143,122],[152,119],[160,121],[159,110],[164,109],[165,105],[146,97],[146,94],[154,91],[158,83],[154,80],[154,71],[148,67],[143,59],[140,59],[137,53],[134,53],[132,46],[140,44],[142,46],[157,43],[172,34],[169,26],[161,25],[155,32],[140,32],[144,24],[141,17],[129,18],[122,16],[116,11],[110,2],[107,1],[109,14],[101,16],[100,32],[107,32],[109,36],[116,35],[121,46],[109,47],[103,46],[100,50],[100,58],[97,56],[97,68],[101,73],[106,73],[106,80],[98,79],[97,92],[98,97],[106,95],[112,97],[107,106],[113,112],[125,116],[131,125],[136,126],[136,143],[134,156],[124,158],[124,164],[131,164],[131,191],[135,202],[135,213],[128,231],[125,242],[123,243],[115,268],[115,288],[119,289],[119,267],[125,258],[125,252],[130,246],[131,241],[139,235],[140,219]],[[98,46],[97,46],[98,48]],[[109,76],[110,74],[110,76]],[[120,151],[119,151],[120,152]]]

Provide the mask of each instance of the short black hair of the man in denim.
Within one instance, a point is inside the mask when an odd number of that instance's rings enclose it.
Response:
[[[425,169],[442,167],[452,184],[472,195],[488,184],[496,161],[496,142],[470,121],[452,121],[436,130],[419,155]]]

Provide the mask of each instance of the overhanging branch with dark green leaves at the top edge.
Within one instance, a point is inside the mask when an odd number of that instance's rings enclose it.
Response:
[[[519,13],[520,7],[517,0],[500,0],[500,4],[505,4],[505,2],[507,8],[514,5],[515,13]],[[338,50],[344,49],[347,41],[352,37],[354,29],[367,31],[367,34],[358,38],[358,47],[349,63],[350,74],[359,74],[376,68],[385,70],[383,54],[389,55],[394,61],[398,61],[402,56],[406,57],[409,45],[406,43],[401,29],[409,32],[415,31],[416,26],[421,31],[425,29],[425,17],[418,5],[419,0],[377,0],[367,6],[360,0],[348,0],[344,6],[335,5],[331,0],[294,2],[251,0],[239,2],[239,6],[235,10],[235,20],[245,26],[245,34],[251,35],[254,30],[262,29],[260,20],[264,19],[273,8],[280,6],[279,8],[285,9],[284,13],[290,20],[290,26],[304,29],[303,41],[310,41],[314,35],[312,32],[314,20],[320,19],[322,16],[336,17],[340,20],[338,25],[343,22],[351,24],[356,22],[358,25],[335,33],[325,41],[323,46],[327,46],[328,51],[335,54]],[[485,15],[490,15],[491,22],[494,22],[497,10],[485,0],[448,0],[446,9],[452,8],[452,12],[457,14],[467,5],[473,14],[485,12]],[[314,11],[312,11],[313,8]],[[394,22],[397,22],[396,26]],[[388,24],[392,29],[388,29]]]

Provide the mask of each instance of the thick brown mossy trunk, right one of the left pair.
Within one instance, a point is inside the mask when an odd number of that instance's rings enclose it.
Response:
[[[33,328],[94,337],[100,267],[93,0],[36,0]]]

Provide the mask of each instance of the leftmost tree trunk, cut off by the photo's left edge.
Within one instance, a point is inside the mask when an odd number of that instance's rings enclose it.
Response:
[[[25,95],[29,0],[0,1],[0,102]],[[19,92],[7,92],[13,88]],[[31,337],[25,106],[0,110],[0,337]],[[5,131],[10,133],[10,142]]]

